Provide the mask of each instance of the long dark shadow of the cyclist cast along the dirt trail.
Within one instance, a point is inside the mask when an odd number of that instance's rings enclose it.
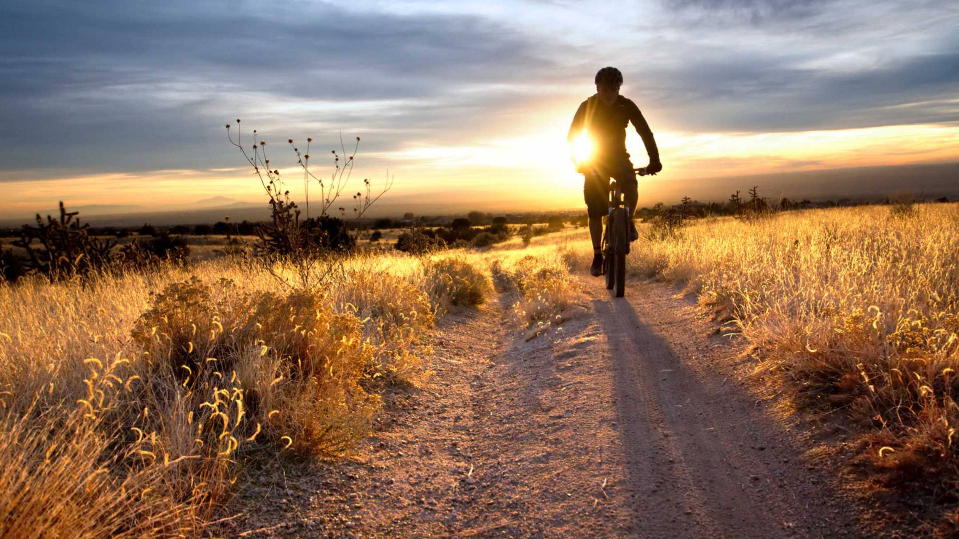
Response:
[[[674,350],[653,327],[679,329],[680,318],[656,313],[658,320],[646,322],[628,298],[596,295],[612,354],[634,530],[650,537],[790,536],[784,523],[798,518],[801,504],[774,484],[764,445],[780,428],[736,389],[690,370],[694,345]],[[679,331],[687,342],[703,339],[691,327]],[[769,505],[770,497],[781,503]],[[784,504],[795,509],[771,514]]]

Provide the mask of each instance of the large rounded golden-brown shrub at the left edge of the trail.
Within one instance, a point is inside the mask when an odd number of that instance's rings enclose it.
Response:
[[[226,280],[217,290],[219,299],[193,277],[155,296],[131,332],[151,358],[144,379],[169,372],[176,387],[199,391],[235,372],[249,418],[236,434],[259,431],[319,454],[342,453],[361,439],[379,397],[360,385],[373,361],[360,319],[334,313],[314,293],[239,293]]]

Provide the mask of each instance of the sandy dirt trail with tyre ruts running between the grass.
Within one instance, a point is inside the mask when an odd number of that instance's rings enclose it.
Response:
[[[433,337],[433,377],[391,397],[360,455],[266,474],[245,488],[255,516],[235,530],[866,535],[829,469],[803,457],[808,448],[739,380],[738,345],[714,335],[688,299],[639,282],[616,299],[599,279],[581,281],[579,316],[532,340],[506,321],[506,296],[445,318]]]

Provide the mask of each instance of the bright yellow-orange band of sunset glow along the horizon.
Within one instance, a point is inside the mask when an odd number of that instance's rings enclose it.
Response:
[[[382,173],[370,171],[388,167],[396,175],[390,195],[404,200],[441,204],[444,197],[437,194],[469,192],[479,209],[511,201],[527,206],[575,207],[582,202],[582,176],[574,171],[564,124],[565,120],[557,121],[537,132],[468,145],[417,145],[393,152],[361,153],[358,160],[363,161],[358,164],[363,170],[358,167],[354,180],[376,179]],[[656,140],[666,167],[655,176],[657,182],[959,161],[959,127],[947,125],[767,133],[660,131]],[[635,131],[627,134],[626,145],[633,162],[643,166],[643,143]],[[302,173],[295,167],[281,172],[292,198],[301,199]],[[139,204],[157,210],[215,196],[263,199],[256,176],[242,166],[37,178],[4,184],[9,195],[0,202],[0,215],[46,211],[55,208],[59,199],[73,205]]]

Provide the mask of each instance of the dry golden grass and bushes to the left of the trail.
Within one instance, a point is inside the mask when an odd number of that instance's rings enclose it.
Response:
[[[228,258],[0,284],[0,536],[196,535],[247,458],[348,452],[436,317],[520,256],[360,254],[313,291]]]

